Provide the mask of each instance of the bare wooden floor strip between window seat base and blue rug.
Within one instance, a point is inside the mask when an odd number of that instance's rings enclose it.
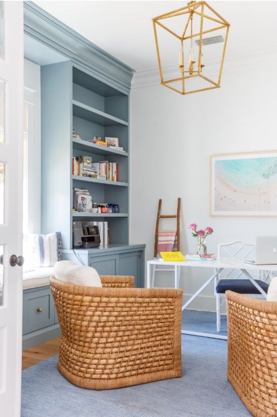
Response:
[[[35,346],[34,348],[23,350],[22,352],[22,369],[29,368],[29,366],[35,365],[44,359],[59,353],[60,338],[50,340],[42,345]]]

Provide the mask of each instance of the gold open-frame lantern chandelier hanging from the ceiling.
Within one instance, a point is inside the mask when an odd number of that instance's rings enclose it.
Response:
[[[162,85],[182,95],[220,87],[230,25],[215,9],[206,1],[190,1],[185,7],[152,20]],[[214,32],[216,36],[205,37],[207,34],[214,35]],[[209,69],[204,65],[203,46],[212,44],[214,47],[209,53],[207,51],[212,63]],[[164,56],[162,45],[166,48]],[[215,53],[214,60],[211,59],[211,51]],[[170,66],[169,75],[169,67],[162,65],[168,60],[174,63],[173,67]]]

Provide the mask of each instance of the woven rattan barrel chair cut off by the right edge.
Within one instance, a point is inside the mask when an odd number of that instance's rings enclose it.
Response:
[[[277,302],[226,291],[228,381],[255,417],[277,416]]]

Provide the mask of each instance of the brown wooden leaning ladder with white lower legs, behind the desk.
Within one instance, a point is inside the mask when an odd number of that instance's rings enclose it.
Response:
[[[158,232],[159,232],[159,221],[160,219],[177,219],[177,250],[180,250],[180,211],[181,211],[181,198],[178,198],[177,205],[177,214],[161,214],[161,199],[159,199],[157,220],[156,220],[156,229],[155,229],[155,244],[154,244],[154,258],[158,254]],[[174,288],[179,288],[180,280],[180,268],[175,266],[174,268],[157,268],[156,265],[153,266],[152,270],[152,279],[151,287],[154,287],[155,273],[156,272],[174,272]]]

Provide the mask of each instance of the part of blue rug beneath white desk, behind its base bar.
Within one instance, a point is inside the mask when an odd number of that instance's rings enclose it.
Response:
[[[227,317],[221,314],[221,332],[216,331],[216,313],[197,310],[184,310],[182,330],[227,336]]]

